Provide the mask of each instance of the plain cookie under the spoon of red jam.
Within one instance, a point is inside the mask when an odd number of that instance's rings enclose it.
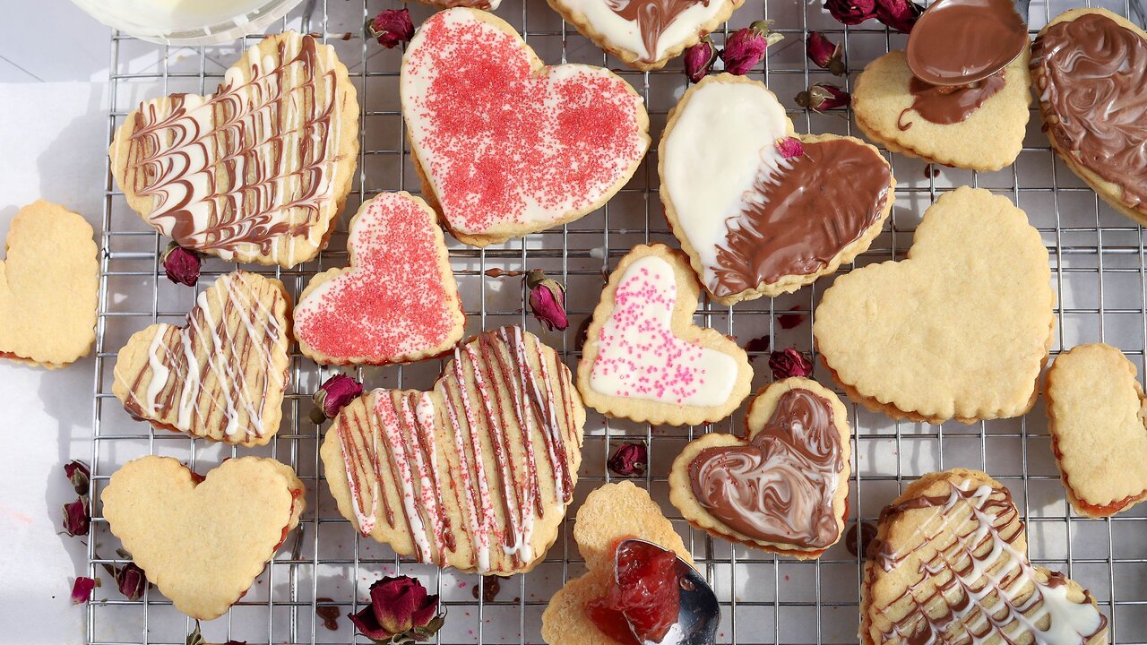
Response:
[[[657,544],[693,564],[673,524],[645,489],[632,482],[607,483],[591,492],[577,511],[574,539],[588,569],[565,583],[541,614],[541,639],[549,645],[617,645],[586,614],[586,603],[603,597],[614,584],[618,542],[635,537]]]

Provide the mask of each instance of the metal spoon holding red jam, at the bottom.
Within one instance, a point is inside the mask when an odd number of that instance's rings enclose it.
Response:
[[[617,578],[617,564],[623,553],[626,557],[648,559],[666,551],[669,550],[645,539],[622,541],[617,545],[614,559],[614,578]],[[677,613],[677,622],[669,628],[665,637],[661,640],[643,640],[641,635],[633,629],[632,623],[630,623],[630,631],[642,645],[712,645],[717,642],[717,623],[720,621],[717,595],[713,593],[705,578],[680,557],[677,558],[677,572],[680,582],[680,608]]]

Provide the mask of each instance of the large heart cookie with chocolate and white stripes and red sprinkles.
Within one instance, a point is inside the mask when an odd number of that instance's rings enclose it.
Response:
[[[502,327],[455,348],[430,391],[351,402],[320,453],[338,511],[362,535],[421,562],[512,575],[557,536],[584,425],[557,353]]]

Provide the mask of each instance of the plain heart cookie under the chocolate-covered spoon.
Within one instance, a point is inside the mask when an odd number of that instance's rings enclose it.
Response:
[[[918,80],[904,52],[868,63],[852,91],[865,135],[894,153],[978,171],[999,170],[1023,148],[1031,102],[1029,52],[954,92]]]

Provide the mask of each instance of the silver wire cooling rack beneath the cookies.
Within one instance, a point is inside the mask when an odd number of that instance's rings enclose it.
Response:
[[[1031,6],[1031,26],[1038,30],[1051,17],[1071,7],[1060,0]],[[1138,2],[1139,0],[1134,0]],[[401,52],[382,49],[361,36],[368,15],[401,6],[398,0],[311,0],[276,26],[313,32],[335,46],[350,68],[361,103],[361,150],[353,193],[330,248],[315,262],[294,270],[244,265],[281,279],[296,296],[315,272],[346,263],[345,230],[350,213],[362,199],[381,191],[419,191],[403,131],[398,101]],[[1142,20],[1128,0],[1102,6]],[[430,9],[412,5],[415,24]],[[596,304],[603,277],[633,244],[646,241],[676,243],[661,215],[657,197],[656,141],[665,114],[685,90],[680,62],[642,73],[602,54],[540,0],[505,0],[497,11],[522,32],[548,63],[585,62],[607,65],[645,98],[651,119],[654,150],[629,185],[608,204],[561,228],[512,240],[484,250],[450,241],[451,261],[473,334],[517,322],[557,349],[570,367],[579,356],[578,325]],[[803,132],[853,133],[844,110],[809,114],[793,98],[812,83],[848,87],[872,59],[904,45],[904,37],[875,29],[844,28],[819,0],[747,0],[728,25],[713,38],[719,44],[732,31],[762,17],[775,21],[785,40],[770,48],[767,61],[750,76],[764,80],[789,108]],[[811,68],[804,56],[804,36],[827,32],[845,44],[849,78]],[[258,40],[202,48],[172,48],[112,37],[111,101],[108,137],[139,101],[172,92],[211,92],[224,70],[247,46]],[[1083,342],[1105,341],[1123,349],[1144,373],[1147,345],[1147,265],[1142,231],[1113,212],[1056,160],[1032,112],[1025,146],[1012,166],[999,172],[934,168],[919,160],[891,155],[897,178],[896,208],[885,230],[857,264],[902,258],[924,208],[944,191],[961,185],[990,188],[1013,199],[1043,234],[1051,254],[1053,281],[1059,294],[1053,352]],[[842,178],[848,180],[848,178]],[[649,444],[650,467],[637,482],[647,488],[662,510],[686,536],[686,543],[721,601],[720,643],[856,643],[863,560],[846,547],[848,539],[819,560],[798,562],[715,541],[692,530],[668,500],[669,464],[681,446],[704,427],[664,428],[608,420],[590,412],[584,461],[568,519],[545,561],[529,575],[491,583],[477,575],[439,572],[396,558],[387,546],[364,539],[337,512],[323,482],[318,445],[326,426],[309,419],[311,394],[330,374],[295,355],[282,426],[263,449],[234,449],[184,435],[155,432],[136,422],[111,395],[111,370],[117,350],[135,331],[153,322],[179,324],[196,293],[214,277],[236,265],[219,259],[205,263],[197,288],[169,282],[158,257],[166,240],[148,228],[124,202],[110,174],[103,212],[103,258],[94,378],[93,539],[88,575],[103,575],[104,564],[120,566],[118,541],[102,518],[99,494],[122,464],[146,453],[173,456],[204,473],[223,458],[265,454],[290,464],[307,487],[307,510],[298,530],[259,576],[251,591],[224,617],[203,624],[210,642],[353,643],[345,614],[360,608],[366,588],[381,575],[400,572],[423,581],[442,596],[448,609],[439,643],[540,643],[541,612],[565,580],[580,575],[572,539],[572,518],[586,494],[616,479],[606,468],[612,449],[623,441]],[[498,271],[540,267],[569,287],[571,327],[546,333],[523,312],[518,278]],[[846,271],[849,267],[842,267]],[[812,310],[832,278],[775,300],[762,298],[725,308],[702,303],[696,320],[735,335],[748,345],[757,375],[754,387],[768,382],[767,350],[795,345],[812,349]],[[771,339],[771,342],[770,342]],[[755,341],[751,342],[750,341]],[[975,343],[976,339],[965,339]],[[361,370],[367,387],[429,388],[440,364]],[[817,376],[830,384],[822,367]],[[983,468],[1005,482],[1023,513],[1032,559],[1061,569],[1089,588],[1108,616],[1113,643],[1147,643],[1147,504],[1108,520],[1071,514],[1059,482],[1046,430],[1043,402],[1020,419],[973,426],[894,422],[850,404],[855,426],[849,528],[874,523],[880,508],[919,475],[955,466]],[[733,419],[708,428],[735,432]],[[861,534],[864,531],[860,531]],[[863,551],[861,551],[863,552]],[[93,644],[184,643],[194,623],[174,609],[155,589],[141,600],[128,601],[106,575],[103,589],[88,605],[87,638]],[[323,615],[338,617],[329,629]],[[358,642],[366,643],[361,637]]]

